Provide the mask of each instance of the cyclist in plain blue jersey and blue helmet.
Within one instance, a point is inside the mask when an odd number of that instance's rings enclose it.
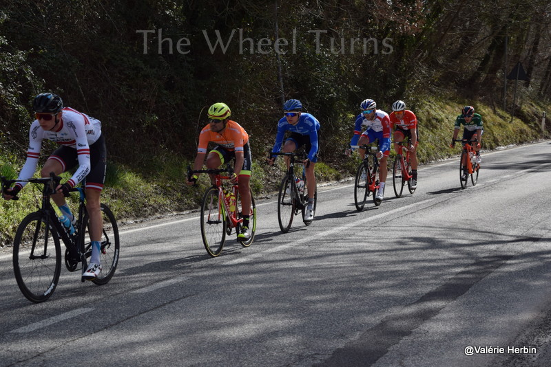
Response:
[[[314,166],[318,162],[318,150],[320,148],[319,133],[320,122],[310,113],[302,112],[302,103],[300,100],[288,100],[283,105],[285,116],[278,122],[278,135],[275,137],[272,153],[278,153],[283,144],[285,131],[291,134],[285,140],[283,153],[291,153],[301,146],[306,146],[308,158],[304,160],[306,164],[306,188],[308,189],[308,205],[304,213],[304,220],[314,219],[314,194],[315,194],[315,175]],[[268,159],[268,164],[273,164],[275,155]],[[287,158],[287,157],[286,157]],[[286,159],[289,166],[289,159]]]

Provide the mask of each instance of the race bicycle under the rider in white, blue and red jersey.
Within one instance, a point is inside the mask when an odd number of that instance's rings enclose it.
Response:
[[[362,148],[366,150],[366,155],[360,166],[357,168],[356,179],[354,182],[354,204],[358,211],[362,211],[366,205],[366,200],[369,194],[373,193],[373,203],[376,206],[381,205],[375,201],[375,195],[379,190],[379,180],[377,179],[377,173],[379,173],[379,159],[377,159],[377,152],[379,151],[379,142],[370,144],[363,144],[361,146],[353,145],[351,148]]]

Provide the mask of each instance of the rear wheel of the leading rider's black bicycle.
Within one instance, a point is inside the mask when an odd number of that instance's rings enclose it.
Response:
[[[101,272],[92,280],[96,285],[104,285],[115,274],[116,266],[118,265],[118,254],[121,244],[118,239],[118,225],[110,208],[105,205],[100,205],[102,229],[100,239],[100,259]],[[85,254],[85,262],[83,263],[83,271],[87,268],[87,258],[92,256],[92,238],[90,238],[90,216],[85,212],[81,225],[81,253]]]

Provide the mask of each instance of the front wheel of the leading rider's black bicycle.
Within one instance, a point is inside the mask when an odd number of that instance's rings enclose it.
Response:
[[[23,296],[35,303],[52,296],[61,273],[59,236],[47,220],[41,212],[25,216],[13,243],[15,280]]]

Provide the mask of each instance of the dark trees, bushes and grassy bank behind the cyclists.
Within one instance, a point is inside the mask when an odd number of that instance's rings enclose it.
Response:
[[[424,162],[454,153],[450,124],[464,104],[483,113],[489,148],[534,140],[550,111],[550,10],[544,0],[5,0],[0,155],[21,166],[33,96],[59,93],[102,122],[117,213],[145,216],[200,200],[183,177],[214,102],[251,136],[256,193],[280,180],[260,157],[287,98],[322,123],[320,179],[355,171],[342,152],[365,98],[387,112],[406,101]],[[519,61],[530,80],[513,101],[503,77]]]

